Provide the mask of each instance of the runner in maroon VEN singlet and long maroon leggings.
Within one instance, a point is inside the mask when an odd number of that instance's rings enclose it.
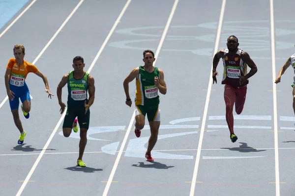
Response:
[[[257,72],[257,67],[249,54],[238,48],[239,43],[235,35],[231,35],[227,40],[227,49],[221,49],[213,57],[213,84],[217,84],[216,67],[219,59],[223,60],[223,79],[221,84],[224,86],[224,101],[226,105],[226,122],[230,129],[230,138],[232,142],[236,142],[237,137],[234,133],[234,116],[233,109],[235,104],[236,113],[243,111],[248,79]],[[247,73],[247,66],[251,68]]]

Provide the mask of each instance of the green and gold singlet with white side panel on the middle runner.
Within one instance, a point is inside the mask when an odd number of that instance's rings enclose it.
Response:
[[[159,69],[154,67],[153,72],[149,73],[144,66],[139,66],[139,77],[136,79],[135,105],[156,105],[160,103],[158,87],[155,86],[154,79],[159,76]]]

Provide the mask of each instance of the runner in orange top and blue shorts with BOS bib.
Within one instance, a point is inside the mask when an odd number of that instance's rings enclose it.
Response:
[[[24,142],[26,131],[22,126],[22,122],[19,117],[19,99],[22,101],[21,109],[26,118],[29,118],[29,111],[31,109],[29,88],[25,82],[27,75],[32,72],[43,79],[46,86],[45,92],[51,98],[51,94],[48,86],[47,77],[38,71],[37,67],[33,64],[24,60],[25,57],[25,47],[23,45],[15,45],[13,48],[13,55],[15,58],[10,58],[6,67],[5,72],[5,86],[7,91],[7,96],[9,99],[10,109],[13,115],[13,120],[21,132],[18,144]]]

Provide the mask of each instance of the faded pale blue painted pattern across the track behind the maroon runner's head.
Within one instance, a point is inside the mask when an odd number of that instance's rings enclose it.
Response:
[[[276,21],[276,23],[288,23],[288,26],[292,26],[295,24],[294,21]],[[289,24],[292,23],[292,24]],[[270,48],[270,41],[268,40],[269,36],[269,21],[268,20],[261,20],[261,21],[225,21],[224,22],[224,29],[228,31],[232,31],[232,33],[238,33],[239,37],[242,38],[244,42],[244,47],[248,48],[248,51],[267,51]],[[163,29],[162,26],[151,26],[151,27],[134,27],[134,28],[123,28],[118,29],[116,32],[130,35],[132,38],[135,36],[141,36],[141,37],[153,37],[153,38],[159,38],[161,36],[160,31],[158,31],[158,34],[148,34],[147,31],[150,29],[153,32],[156,32],[155,29]],[[201,23],[196,26],[171,26],[170,29],[173,31],[175,28],[196,28],[196,33],[198,33],[198,28],[209,28],[209,29],[216,29],[217,23],[216,22],[208,22],[208,23]],[[277,36],[286,36],[286,35],[292,35],[295,34],[295,30],[293,29],[283,29],[283,28],[276,28],[276,35]],[[137,32],[136,32],[137,31]],[[202,31],[201,31],[202,32]],[[215,42],[215,34],[204,34],[204,35],[167,35],[166,41],[202,41],[202,42]],[[178,33],[179,34],[179,33]],[[222,34],[221,35],[221,41],[226,42],[227,35]],[[267,38],[267,40],[263,40],[261,38]],[[117,42],[109,43],[110,46],[121,48],[121,49],[133,49],[133,50],[145,50],[145,48],[136,46],[136,43],[140,42],[152,42],[152,41],[159,41],[158,39],[133,39],[133,40],[121,40]],[[186,45],[188,46],[188,45]],[[293,48],[293,43],[290,42],[282,42],[282,41],[276,41],[276,49],[277,50],[283,50],[283,49],[289,49]],[[152,49],[152,48],[151,48]],[[155,50],[152,49],[152,50]],[[169,52],[191,52],[196,55],[201,56],[212,56],[212,48],[202,48],[202,49],[166,49],[163,48],[163,51],[169,51]],[[264,56],[252,56],[252,58],[265,58]]]

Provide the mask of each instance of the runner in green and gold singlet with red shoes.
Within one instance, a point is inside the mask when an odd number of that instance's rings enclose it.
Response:
[[[150,127],[150,138],[146,152],[147,161],[153,161],[151,150],[155,146],[159,127],[160,109],[158,92],[166,94],[167,87],[164,81],[164,73],[161,69],[154,67],[154,53],[150,50],[144,51],[143,61],[145,64],[134,68],[123,82],[126,94],[126,105],[131,107],[132,101],[129,96],[129,83],[136,79],[136,98],[135,98],[135,135],[140,137],[141,129],[145,126],[145,118],[148,116]]]

